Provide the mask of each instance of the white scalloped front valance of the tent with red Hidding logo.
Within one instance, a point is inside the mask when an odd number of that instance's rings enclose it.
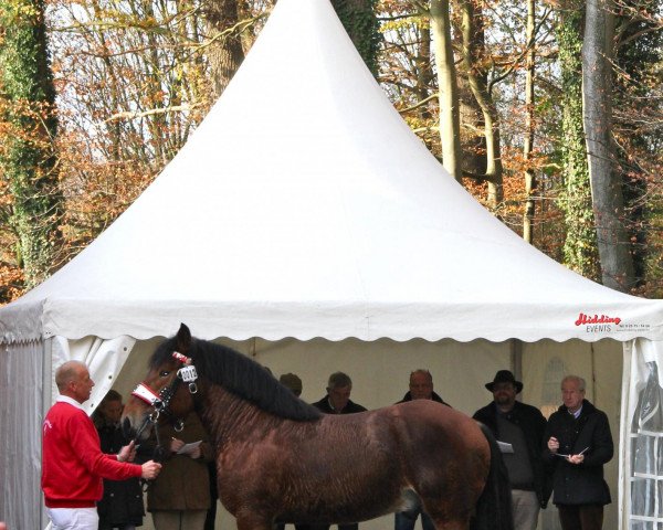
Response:
[[[581,299],[581,294],[578,298]],[[587,316],[589,324],[578,324],[581,315]],[[608,318],[608,322],[601,322],[601,317]],[[615,318],[619,324],[610,320]],[[592,319],[599,322],[593,324]],[[629,341],[639,337],[663,340],[663,303],[638,298],[627,303],[588,299],[540,305],[487,297],[477,303],[439,304],[154,299],[136,300],[130,306],[113,300],[62,298],[46,301],[43,321],[45,337],[71,339],[78,339],[85,332],[104,339],[127,335],[145,340],[172,335],[185,322],[197,337],[208,340],[219,335],[234,340],[256,336],[266,340],[319,337],[334,341],[350,337],[364,341],[383,337],[397,341],[450,338],[462,342],[475,339],[502,342],[511,338],[526,342],[540,339],[593,342],[604,338]]]

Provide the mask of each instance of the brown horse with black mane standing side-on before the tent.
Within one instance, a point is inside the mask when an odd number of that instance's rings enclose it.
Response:
[[[182,325],[152,354],[123,426],[144,439],[191,409],[213,442],[219,496],[239,530],[364,521],[406,509],[409,491],[438,530],[513,529],[495,441],[440,403],[323,415],[253,360]]]

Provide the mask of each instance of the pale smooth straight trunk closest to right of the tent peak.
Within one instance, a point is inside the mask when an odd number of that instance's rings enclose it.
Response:
[[[461,173],[461,124],[456,72],[451,46],[449,0],[431,0],[431,28],[440,91],[440,140],[444,169],[459,182]]]

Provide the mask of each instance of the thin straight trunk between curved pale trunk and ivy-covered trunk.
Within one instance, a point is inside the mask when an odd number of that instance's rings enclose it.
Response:
[[[525,214],[523,215],[523,239],[532,244],[534,242],[533,224],[536,213],[536,203],[533,198],[536,189],[534,168],[529,163],[532,149],[534,147],[534,75],[535,75],[535,13],[536,1],[527,0],[527,28],[525,39],[527,41],[527,57],[525,65],[525,140],[523,141],[523,159],[525,160]]]

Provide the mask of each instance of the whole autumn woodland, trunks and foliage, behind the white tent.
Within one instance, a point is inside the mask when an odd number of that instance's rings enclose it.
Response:
[[[569,268],[663,297],[660,0],[333,4],[450,178]],[[159,174],[272,8],[0,0],[0,304],[75,256]],[[485,273],[499,282],[491,256]]]

